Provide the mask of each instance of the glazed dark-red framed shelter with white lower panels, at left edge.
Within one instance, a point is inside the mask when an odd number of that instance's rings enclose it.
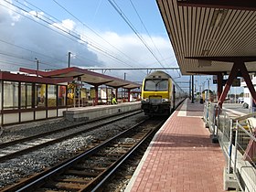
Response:
[[[69,80],[0,71],[1,126],[62,116]]]

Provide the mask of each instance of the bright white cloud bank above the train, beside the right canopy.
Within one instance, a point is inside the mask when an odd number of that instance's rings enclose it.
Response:
[[[104,60],[106,63],[108,63],[108,67],[112,68],[162,68],[163,66],[177,67],[174,52],[167,38],[154,36],[148,37],[143,34],[141,36],[144,38],[144,42],[146,42],[160,63],[144,46],[144,43],[138,37],[136,37],[136,35],[120,35],[112,31],[101,32],[101,37],[107,39],[108,42],[111,43],[111,45],[109,45],[107,42],[101,41],[101,46],[108,48],[108,51],[112,53],[114,57],[122,59],[123,62],[114,60],[102,54],[98,55],[99,59]],[[99,38],[95,37],[93,34],[90,34],[90,37],[93,39]],[[168,70],[168,72],[173,74],[175,77],[178,75],[176,71],[173,70]],[[139,71],[127,70],[116,72],[115,74],[123,78],[124,73],[126,73],[126,77],[130,80],[143,80],[147,71],[145,69]]]

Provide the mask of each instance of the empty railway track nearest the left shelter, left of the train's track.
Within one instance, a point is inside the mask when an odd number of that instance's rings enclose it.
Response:
[[[39,148],[45,147],[49,144],[56,144],[81,133],[89,132],[91,130],[95,130],[100,128],[103,125],[107,125],[110,123],[114,123],[120,121],[129,116],[133,116],[140,112],[129,112],[127,114],[122,114],[119,117],[105,118],[105,121],[102,123],[98,123],[97,125],[93,125],[88,127],[89,123],[95,123],[97,121],[85,122],[76,125],[71,125],[67,127],[63,127],[59,130],[47,132],[47,133],[39,133],[37,135],[33,135],[30,137],[26,137],[23,139],[11,141],[8,143],[0,144],[0,162],[4,162],[6,160],[15,158],[18,155],[24,155],[31,151],[35,151]],[[87,125],[86,127],[84,125]]]

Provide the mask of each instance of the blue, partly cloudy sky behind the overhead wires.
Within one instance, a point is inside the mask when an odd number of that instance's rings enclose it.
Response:
[[[105,74],[134,82],[148,71],[132,68],[178,67],[155,0],[0,0],[1,70],[67,68],[69,52],[71,67],[129,68]],[[187,90],[189,76],[165,71]]]

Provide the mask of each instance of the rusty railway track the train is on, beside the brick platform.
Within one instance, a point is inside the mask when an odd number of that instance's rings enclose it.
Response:
[[[147,120],[3,191],[99,191],[165,120]]]

